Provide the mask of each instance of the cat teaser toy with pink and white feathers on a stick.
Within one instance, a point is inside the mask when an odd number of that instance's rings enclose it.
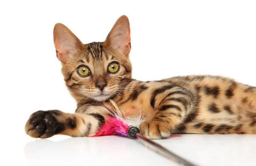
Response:
[[[111,104],[115,107],[115,110],[111,110],[110,108],[106,107],[102,104],[93,104],[95,106],[102,106],[105,107],[109,113],[110,116],[105,117],[104,123],[99,127],[96,134],[91,137],[98,137],[98,136],[104,136],[104,135],[117,135],[117,136],[123,136],[127,138],[132,139],[138,139],[140,140],[140,143],[147,146],[149,149],[153,150],[154,152],[157,152],[158,154],[162,155],[163,157],[166,157],[169,160],[175,161],[183,166],[195,166],[194,164],[190,163],[189,161],[179,157],[175,153],[171,152],[169,149],[166,149],[165,147],[159,145],[158,143],[151,141],[148,138],[145,138],[143,135],[140,134],[140,129],[138,129],[136,123],[143,122],[143,114],[140,113],[137,117],[130,117],[127,114],[132,112],[128,111],[126,113],[122,113],[116,103],[113,100],[110,100]],[[175,136],[175,135],[170,135]],[[179,136],[176,136],[179,137]]]

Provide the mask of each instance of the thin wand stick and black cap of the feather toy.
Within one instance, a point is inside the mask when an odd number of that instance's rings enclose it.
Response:
[[[130,126],[127,130],[127,135],[130,138],[139,138],[140,141],[142,141],[143,144],[147,143],[150,149],[153,149],[155,152],[157,152],[160,155],[163,155],[164,157],[168,158],[169,160],[176,160],[177,163],[183,165],[183,166],[195,166],[194,164],[190,163],[189,161],[175,155],[173,152],[169,151],[165,147],[161,146],[158,143],[155,143],[154,141],[149,140],[148,138],[143,137],[140,134],[140,129],[137,127]]]

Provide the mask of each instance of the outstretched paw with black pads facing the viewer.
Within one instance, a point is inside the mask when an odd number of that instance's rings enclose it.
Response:
[[[49,138],[64,129],[55,116],[61,115],[59,110],[37,111],[30,115],[25,125],[25,132],[33,138]]]

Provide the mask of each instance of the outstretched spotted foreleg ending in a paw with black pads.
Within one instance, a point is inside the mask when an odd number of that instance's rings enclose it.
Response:
[[[84,105],[76,113],[59,110],[37,111],[30,115],[25,132],[33,138],[49,138],[53,135],[86,137],[94,135],[104,121],[102,107]]]

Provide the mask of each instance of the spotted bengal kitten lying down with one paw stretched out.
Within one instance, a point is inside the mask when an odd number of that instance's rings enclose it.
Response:
[[[256,87],[221,76],[177,76],[160,81],[131,78],[130,25],[121,16],[104,42],[82,42],[63,24],[53,30],[61,72],[73,98],[75,113],[37,111],[26,122],[26,134],[49,138],[94,135],[113,108],[147,116],[138,127],[146,138],[171,133],[256,134]],[[134,110],[134,111],[130,111]]]

